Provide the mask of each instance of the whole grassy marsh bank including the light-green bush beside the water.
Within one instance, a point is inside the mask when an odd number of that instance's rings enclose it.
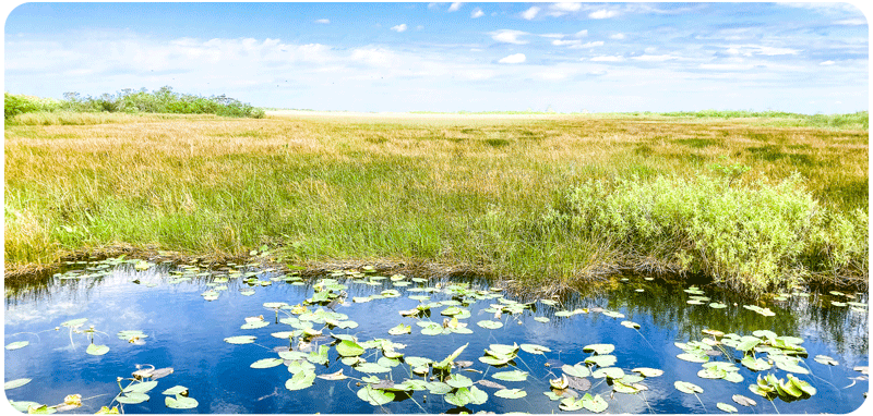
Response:
[[[8,124],[4,256],[25,265],[116,244],[226,254],[271,244],[291,261],[430,261],[533,285],[619,266],[748,290],[865,280],[868,132],[765,121]],[[745,247],[725,248],[736,244]]]

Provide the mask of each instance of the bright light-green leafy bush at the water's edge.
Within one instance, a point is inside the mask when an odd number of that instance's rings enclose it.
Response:
[[[866,274],[866,212],[828,212],[799,175],[779,184],[726,178],[589,181],[545,218],[637,258],[749,292],[813,276]]]

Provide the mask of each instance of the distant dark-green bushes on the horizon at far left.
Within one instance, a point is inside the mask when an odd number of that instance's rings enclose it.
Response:
[[[116,95],[82,97],[77,93],[64,94],[63,100],[4,94],[5,122],[11,124],[89,124],[64,120],[76,120],[77,113],[162,113],[162,114],[215,114],[222,117],[255,118],[264,117],[264,110],[222,96],[201,97],[175,93],[171,87],[154,91],[145,88],[135,91],[123,89]],[[23,114],[37,113],[37,117]],[[49,113],[49,114],[46,114]],[[85,117],[87,120],[87,117]],[[60,122],[57,122],[60,121]]]

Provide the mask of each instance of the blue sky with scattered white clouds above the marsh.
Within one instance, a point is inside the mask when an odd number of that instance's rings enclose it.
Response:
[[[4,89],[351,111],[869,106],[850,3],[25,3]]]

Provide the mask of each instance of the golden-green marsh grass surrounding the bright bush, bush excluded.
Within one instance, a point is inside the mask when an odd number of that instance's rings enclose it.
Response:
[[[20,266],[109,245],[234,255],[266,243],[288,261],[432,261],[562,286],[642,264],[624,235],[550,231],[547,213],[573,189],[695,180],[727,162],[751,168],[742,184],[797,172],[822,209],[866,215],[860,130],[606,117],[145,118],[7,125],[4,256]],[[866,246],[851,235],[841,244]],[[648,265],[674,266],[661,260]]]

